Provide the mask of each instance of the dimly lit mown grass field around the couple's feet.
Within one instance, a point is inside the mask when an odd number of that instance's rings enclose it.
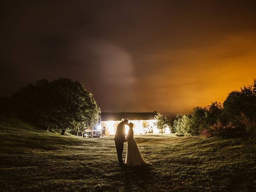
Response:
[[[0,117],[0,191],[256,191],[254,140],[135,138],[152,166],[120,168],[112,136],[60,136]]]

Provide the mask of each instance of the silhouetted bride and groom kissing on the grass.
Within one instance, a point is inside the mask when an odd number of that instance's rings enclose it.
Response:
[[[125,125],[129,126],[128,136],[125,138]],[[150,165],[150,163],[146,162],[141,153],[136,140],[133,136],[133,123],[128,123],[128,119],[120,122],[116,129],[115,135],[115,144],[116,144],[116,152],[118,156],[118,161],[120,166],[141,166],[141,165]],[[124,150],[124,142],[128,142],[127,152],[125,162],[122,160],[122,153]]]

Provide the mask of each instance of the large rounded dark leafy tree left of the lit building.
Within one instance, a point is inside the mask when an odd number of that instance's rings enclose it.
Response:
[[[93,127],[98,122],[100,108],[84,85],[68,78],[48,82],[38,80],[12,95],[18,106],[18,116],[54,129],[65,135],[66,130],[83,126]]]

